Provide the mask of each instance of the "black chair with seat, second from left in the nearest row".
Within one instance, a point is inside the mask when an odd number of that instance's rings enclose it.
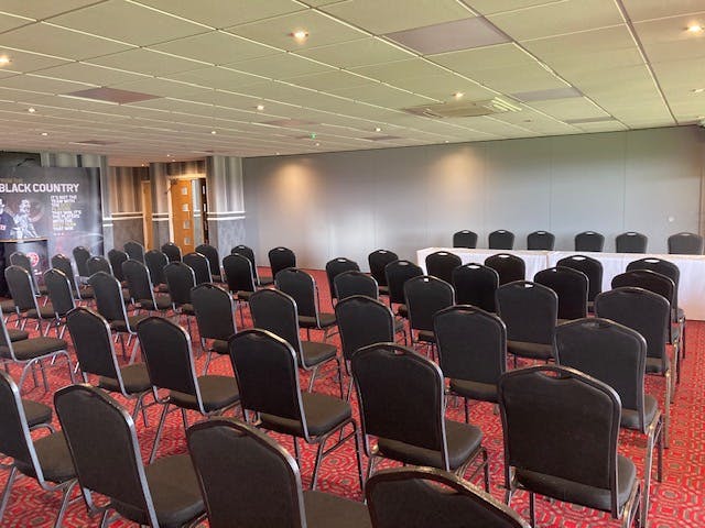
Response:
[[[108,498],[100,507],[86,501],[90,514],[101,514],[101,527],[115,520],[111,512],[154,528],[196,526],[205,506],[188,454],[144,464],[134,420],[99,388],[65,387],[54,406],[84,497]]]

